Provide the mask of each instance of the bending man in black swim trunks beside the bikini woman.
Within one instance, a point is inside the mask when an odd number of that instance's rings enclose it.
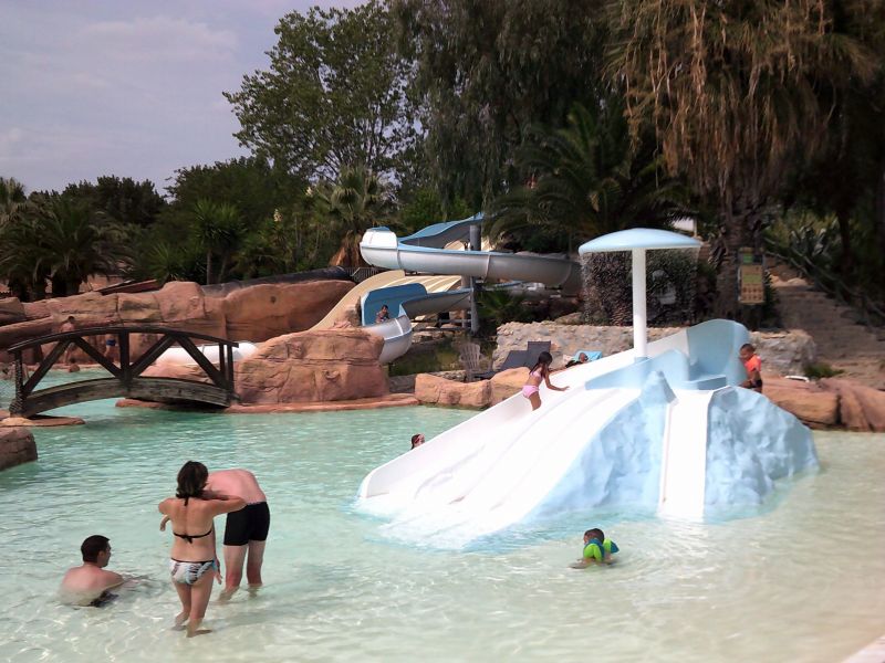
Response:
[[[229,513],[225,525],[226,573],[225,590],[220,598],[227,600],[240,588],[243,562],[249,589],[258,589],[262,585],[261,565],[270,529],[270,508],[254,474],[248,470],[210,472],[206,491],[246,501],[246,508]]]

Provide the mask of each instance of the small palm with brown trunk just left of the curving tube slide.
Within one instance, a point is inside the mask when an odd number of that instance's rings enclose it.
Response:
[[[341,238],[339,251],[329,264],[365,265],[360,240],[388,212],[389,197],[384,182],[365,166],[345,167],[334,185],[324,182],[312,196],[320,213],[331,221],[332,231]]]

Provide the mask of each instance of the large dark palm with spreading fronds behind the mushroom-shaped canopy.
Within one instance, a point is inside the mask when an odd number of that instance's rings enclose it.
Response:
[[[537,225],[583,240],[635,225],[666,227],[685,213],[685,191],[664,177],[660,160],[631,146],[623,108],[612,99],[593,110],[572,106],[568,126],[532,127],[517,151],[529,185],[492,206],[489,234]]]

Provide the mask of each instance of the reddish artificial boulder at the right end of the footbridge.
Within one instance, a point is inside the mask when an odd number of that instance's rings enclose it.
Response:
[[[361,329],[323,329],[268,340],[233,367],[243,406],[345,401],[387,394],[383,341]],[[208,381],[197,366],[153,366],[146,377]]]

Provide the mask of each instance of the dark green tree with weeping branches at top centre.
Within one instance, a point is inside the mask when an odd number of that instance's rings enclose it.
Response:
[[[561,126],[590,104],[604,21],[569,0],[395,0],[400,49],[417,63],[425,152],[444,200],[473,209],[517,183],[513,152],[532,124]]]

